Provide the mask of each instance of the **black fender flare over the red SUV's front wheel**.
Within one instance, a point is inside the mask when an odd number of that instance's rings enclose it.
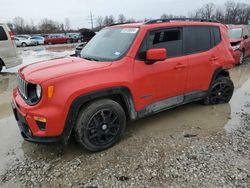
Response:
[[[74,125],[76,123],[77,116],[81,107],[84,104],[90,101],[93,101],[95,99],[99,99],[102,97],[108,98],[109,96],[112,96],[112,95],[122,96],[124,103],[126,105],[130,120],[135,120],[137,118],[137,112],[135,110],[134,100],[133,100],[130,90],[127,87],[108,88],[108,89],[98,90],[98,91],[80,95],[73,100],[69,108],[66,122],[64,124],[63,134],[62,134],[63,144],[67,144],[70,138],[71,132],[74,128]]]

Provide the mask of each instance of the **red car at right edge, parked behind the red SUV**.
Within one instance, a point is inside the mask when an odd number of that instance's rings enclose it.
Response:
[[[250,28],[247,25],[230,25],[228,35],[236,64],[242,64],[250,55]]]

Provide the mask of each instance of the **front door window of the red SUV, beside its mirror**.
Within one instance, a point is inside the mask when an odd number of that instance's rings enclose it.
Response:
[[[148,38],[148,49],[166,48],[168,57],[181,56],[182,28],[154,31]]]

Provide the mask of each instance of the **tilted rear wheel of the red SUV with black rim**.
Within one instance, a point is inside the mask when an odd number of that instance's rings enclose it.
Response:
[[[210,86],[203,100],[205,105],[228,103],[233,96],[234,84],[229,77],[219,77]]]

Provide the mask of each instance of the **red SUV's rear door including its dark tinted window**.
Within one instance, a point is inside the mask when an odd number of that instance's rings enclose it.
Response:
[[[205,91],[214,72],[212,63],[218,61],[218,52],[212,48],[209,26],[184,27],[184,53],[188,56],[188,75],[185,93]]]

